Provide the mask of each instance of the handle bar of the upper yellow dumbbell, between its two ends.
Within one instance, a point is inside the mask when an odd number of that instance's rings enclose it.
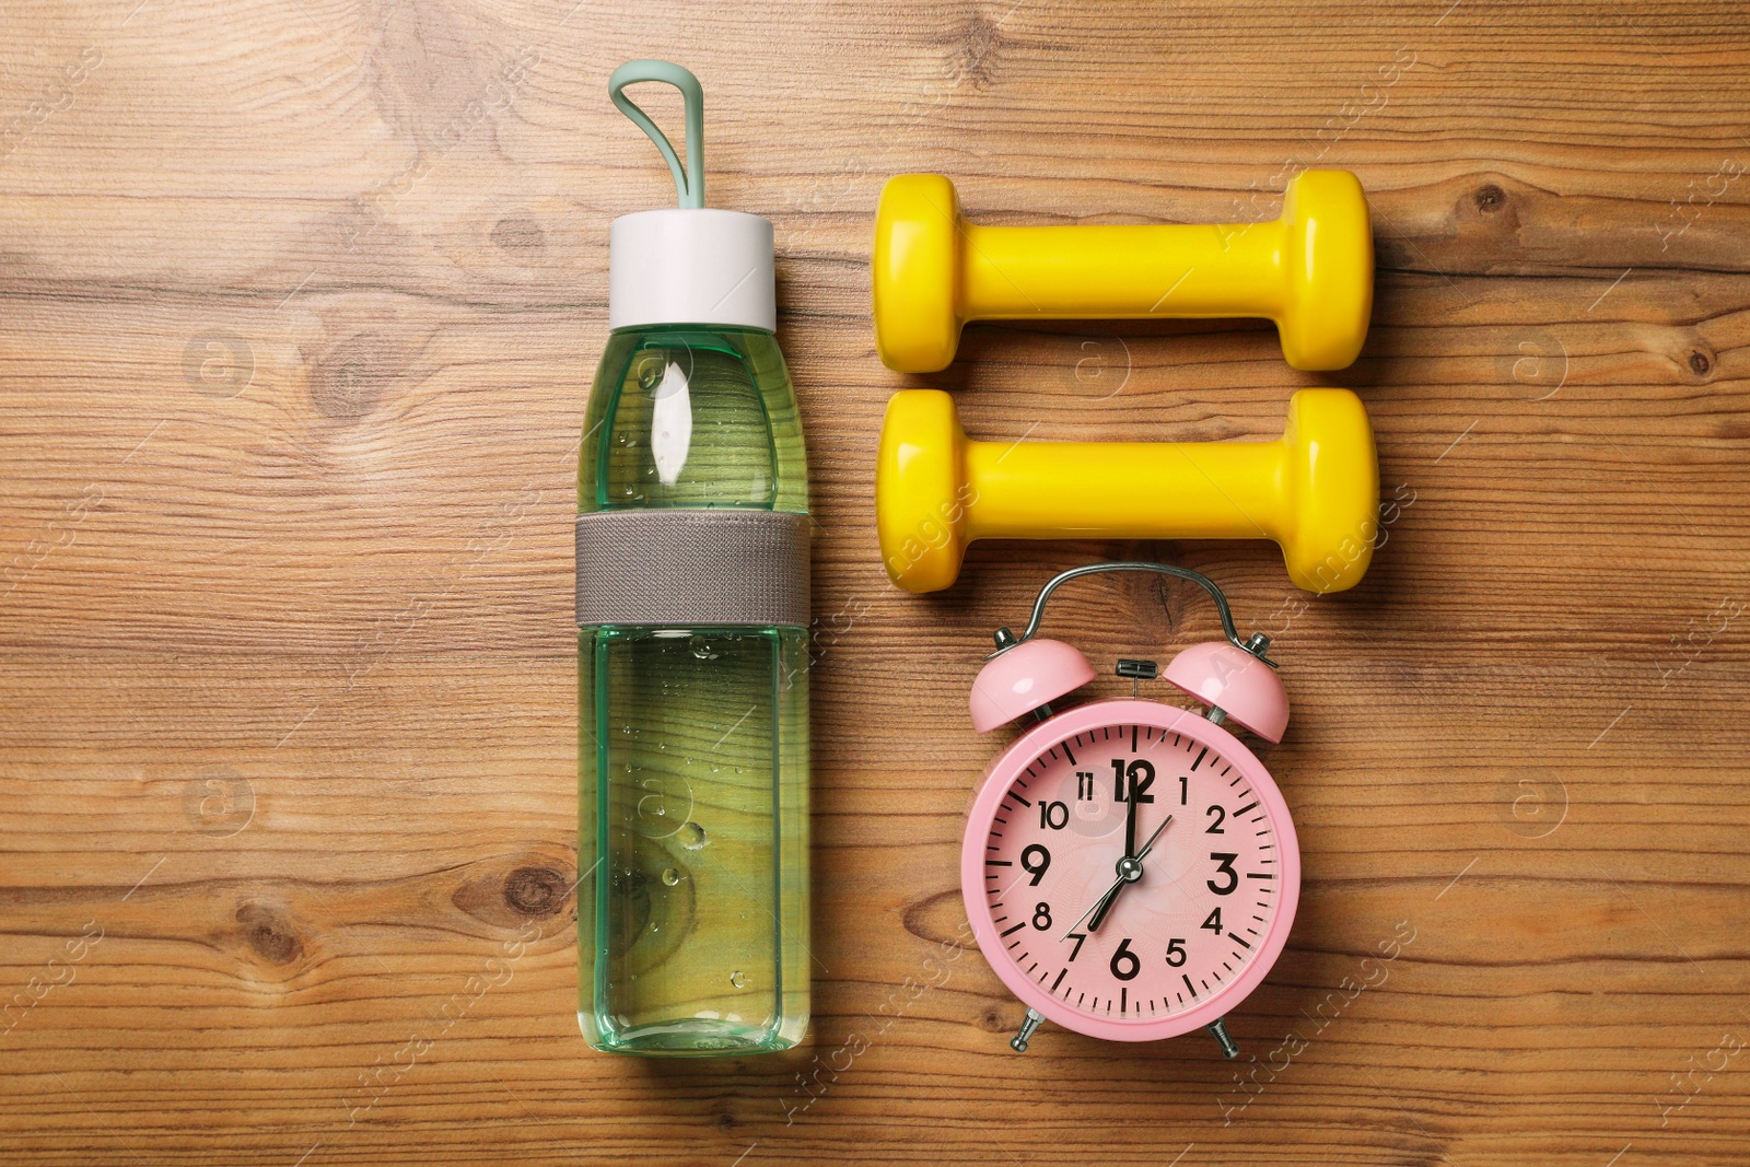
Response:
[[[1286,224],[962,224],[964,320],[1278,317]]]

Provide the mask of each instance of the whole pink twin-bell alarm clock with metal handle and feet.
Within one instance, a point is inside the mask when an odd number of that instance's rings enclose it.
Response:
[[[1050,703],[1094,679],[1088,660],[1036,637],[1045,602],[1094,572],[1188,579],[1216,604],[1227,640],[1199,644],[1166,679],[1208,707],[1148,700]],[[973,684],[973,726],[989,733],[1038,719],[990,763],[961,847],[961,891],[978,948],[1027,1006],[1010,1043],[1026,1050],[1041,1022],[1090,1038],[1157,1041],[1209,1029],[1239,1053],[1222,1018],[1269,975],[1300,899],[1300,845],[1264,763],[1227,728],[1279,742],[1288,693],[1265,656],[1241,640],[1222,590],[1167,563],[1094,563],[1040,591],[1032,619]],[[1155,677],[1153,661],[1118,675]]]

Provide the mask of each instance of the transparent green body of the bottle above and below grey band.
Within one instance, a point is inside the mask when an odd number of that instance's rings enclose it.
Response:
[[[760,331],[614,332],[579,509],[807,511]],[[782,1050],[808,1018],[808,632],[579,628],[578,1020],[604,1050]]]

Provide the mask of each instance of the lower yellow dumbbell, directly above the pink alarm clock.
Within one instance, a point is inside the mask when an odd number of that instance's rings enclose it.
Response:
[[[887,402],[875,464],[887,576],[906,591],[954,583],[973,539],[1274,539],[1288,577],[1342,591],[1379,535],[1367,408],[1348,388],[1302,388],[1278,441],[968,441],[954,399]]]

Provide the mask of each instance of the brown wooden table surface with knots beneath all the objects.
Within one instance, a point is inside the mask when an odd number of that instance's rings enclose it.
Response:
[[[777,226],[808,425],[788,1055],[574,1018],[576,446],[607,222],[674,196],[606,96],[635,56],[700,75],[710,201]],[[28,0],[0,66],[0,1164],[1750,1160],[1743,5]],[[1312,164],[1374,206],[1344,373],[1260,322],[875,359],[891,173],[1197,222]],[[1384,546],[1330,598],[1251,542],[980,544],[903,595],[903,385],[1034,439],[1269,437],[1353,387]],[[1306,889],[1241,1062],[1012,1053],[952,947],[987,635],[1115,555],[1214,576],[1295,703]],[[1110,670],[1214,619],[1097,583],[1055,628]]]

